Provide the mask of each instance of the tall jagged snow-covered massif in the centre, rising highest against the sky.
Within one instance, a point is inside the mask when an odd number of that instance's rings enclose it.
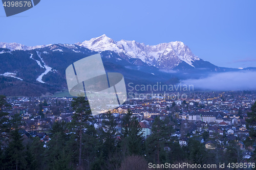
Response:
[[[130,58],[139,58],[148,65],[172,69],[182,61],[193,66],[195,60],[199,60],[191,50],[181,41],[160,43],[157,45],[145,45],[136,41],[120,40],[114,41],[105,34],[92,38],[89,41],[77,43],[80,46],[89,48],[92,51],[114,51],[123,53]],[[172,61],[166,65],[166,59]],[[194,66],[193,66],[194,67]]]

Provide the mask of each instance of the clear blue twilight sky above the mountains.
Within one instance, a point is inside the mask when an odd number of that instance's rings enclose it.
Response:
[[[76,43],[106,34],[149,45],[182,41],[218,66],[256,67],[256,1],[50,1],[6,17],[0,41]]]

